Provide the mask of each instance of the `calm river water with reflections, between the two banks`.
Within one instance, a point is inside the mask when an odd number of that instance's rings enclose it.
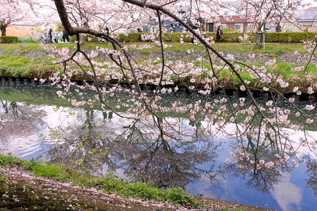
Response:
[[[132,181],[155,181],[162,188],[183,187],[192,195],[268,209],[316,210],[317,156],[308,148],[302,147],[297,152],[299,158],[305,157],[307,161],[297,168],[291,166],[254,175],[234,163],[226,164],[230,153],[236,151],[235,140],[227,140],[219,134],[214,140],[221,143],[218,148],[208,140],[198,141],[196,145],[162,142],[151,128],[136,123],[125,129],[122,127],[125,123],[112,112],[89,106],[74,108],[67,100],[58,98],[56,91],[47,84],[0,82],[2,153],[12,152],[22,159],[55,163],[80,161],[83,167],[79,170],[95,175],[114,172]],[[83,97],[89,95],[87,91]],[[221,96],[199,97],[212,101]],[[185,93],[173,94],[173,98],[191,101]],[[165,95],[164,100],[168,104],[172,99]],[[263,105],[268,101],[258,100]],[[230,101],[238,101],[238,98],[230,97]],[[278,103],[281,107],[284,104],[282,100]],[[306,104],[296,102],[300,108]],[[317,106],[315,102],[309,104]],[[183,125],[204,124],[186,117],[171,115],[168,118],[178,118]],[[294,137],[301,135],[301,132],[288,130]],[[308,130],[317,135],[315,126]],[[274,156],[273,152],[266,153],[267,158]]]

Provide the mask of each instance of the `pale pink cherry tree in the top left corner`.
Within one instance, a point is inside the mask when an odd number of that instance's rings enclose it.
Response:
[[[33,14],[29,4],[19,0],[0,1],[0,8],[1,36],[6,35],[7,27],[17,22],[29,20]]]

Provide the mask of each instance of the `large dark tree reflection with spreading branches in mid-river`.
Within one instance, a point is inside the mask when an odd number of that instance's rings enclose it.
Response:
[[[115,154],[121,162],[120,167],[132,173],[136,181],[155,181],[160,187],[183,187],[200,180],[202,174],[215,183],[215,176],[219,174],[213,170],[214,166],[208,170],[196,167],[212,163],[217,157],[207,142],[200,142],[200,146],[193,146],[193,142],[165,142],[157,134],[143,133],[134,126],[115,142],[119,142],[120,147],[113,147],[109,152]]]

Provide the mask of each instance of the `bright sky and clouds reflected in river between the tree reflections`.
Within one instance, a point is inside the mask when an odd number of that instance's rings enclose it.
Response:
[[[27,89],[27,87],[24,87],[23,89]],[[51,90],[51,92],[52,96],[54,96],[53,90]],[[178,97],[181,96],[182,94],[178,94]],[[265,100],[262,101],[265,102]],[[49,143],[42,142],[42,138],[39,136],[40,134],[48,135],[50,129],[56,128],[60,125],[58,115],[53,111],[55,106],[36,105],[35,103],[29,104],[29,102],[18,102],[16,105],[25,112],[23,114],[24,119],[21,116],[6,119],[7,114],[4,113],[3,107],[0,106],[1,121],[3,124],[8,123],[9,126],[12,126],[9,128],[5,127],[5,125],[0,125],[1,149],[5,148],[24,159],[29,159],[31,157],[44,158],[45,152],[54,146],[55,142],[54,140]],[[61,109],[63,109],[63,107],[61,107]],[[81,130],[82,124],[85,122],[90,124],[93,121],[96,122],[96,127],[94,127],[92,131],[94,136],[108,132],[120,135],[126,131],[126,129],[123,129],[122,126],[128,124],[128,122],[119,121],[115,115],[112,115],[112,118],[109,118],[109,113],[103,114],[102,112],[92,109],[86,110],[87,111],[80,108],[73,108],[72,111],[76,113],[74,116],[68,119],[62,118],[64,120],[63,125],[67,128],[64,133],[66,138],[69,139],[71,137],[80,136],[81,133],[83,133]],[[101,119],[100,122],[98,122],[98,118]],[[172,117],[168,118],[173,119]],[[183,124],[184,127],[188,127],[189,121],[184,119]],[[201,124],[206,126],[206,122],[204,121],[202,121]],[[232,127],[232,125],[229,124],[228,129],[230,127]],[[288,130],[291,131],[290,129]],[[313,132],[312,134],[315,137],[317,136],[316,132]],[[301,134],[294,133],[294,140],[298,140],[300,135]],[[221,134],[218,134],[218,138],[215,141],[222,141],[222,150],[217,152],[218,157],[215,157],[215,166],[213,167],[213,170],[217,170],[219,165],[224,166],[226,159],[229,158],[230,161],[232,160],[230,156],[232,148],[229,146],[229,141]],[[132,146],[132,149],[133,147],[134,146]],[[199,152],[206,146],[197,142],[195,147],[197,152]],[[175,151],[181,153],[183,150],[181,148],[175,148]],[[298,155],[301,156],[308,153],[309,149],[307,147],[302,147],[300,148]],[[114,159],[111,156],[110,158]],[[317,157],[312,156],[312,158]],[[196,164],[195,167],[209,170],[211,165],[212,162],[208,162]],[[118,175],[123,176],[124,172],[128,168],[129,166],[123,165],[116,169],[116,172]],[[102,167],[103,173],[106,173],[108,170],[108,164],[105,164]],[[281,182],[276,185],[275,190],[271,194],[262,194],[254,188],[248,188],[245,184],[248,181],[248,175],[243,179],[242,176],[235,176],[228,172],[224,174],[225,179],[223,179],[220,175],[216,175],[215,179],[219,181],[219,187],[211,185],[210,179],[202,174],[199,179],[201,182],[189,183],[186,186],[186,189],[193,195],[203,194],[205,197],[219,198],[230,202],[249,204],[269,209],[278,209],[283,211],[315,210],[317,206],[317,197],[314,195],[311,188],[305,188],[306,181],[304,179],[307,178],[307,175],[304,173],[305,171],[306,165],[300,164],[299,167],[295,168],[292,173],[283,174],[284,177],[281,178]]]

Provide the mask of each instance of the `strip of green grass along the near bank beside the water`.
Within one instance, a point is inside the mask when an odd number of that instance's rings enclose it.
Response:
[[[204,210],[210,209],[209,205],[204,204],[204,202],[201,202],[195,196],[186,194],[186,191],[182,188],[160,189],[152,187],[149,183],[129,183],[129,180],[124,181],[123,179],[115,177],[113,174],[108,174],[105,177],[82,175],[71,172],[61,165],[41,164],[34,159],[29,161],[20,160],[10,154],[0,154],[0,166],[2,168],[22,166],[24,170],[30,171],[33,176],[46,177],[59,182],[68,182],[71,183],[71,185],[80,187],[93,187],[106,194],[116,194],[124,198],[132,197],[146,201],[163,202],[166,203],[166,206],[173,205],[176,207],[186,206]],[[4,192],[5,195],[10,195],[11,193],[5,192],[5,189],[12,186],[12,184],[4,183],[4,180],[5,176],[0,174],[0,192],[1,194]],[[222,210],[226,211],[228,209]],[[240,208],[230,210],[241,211]]]

